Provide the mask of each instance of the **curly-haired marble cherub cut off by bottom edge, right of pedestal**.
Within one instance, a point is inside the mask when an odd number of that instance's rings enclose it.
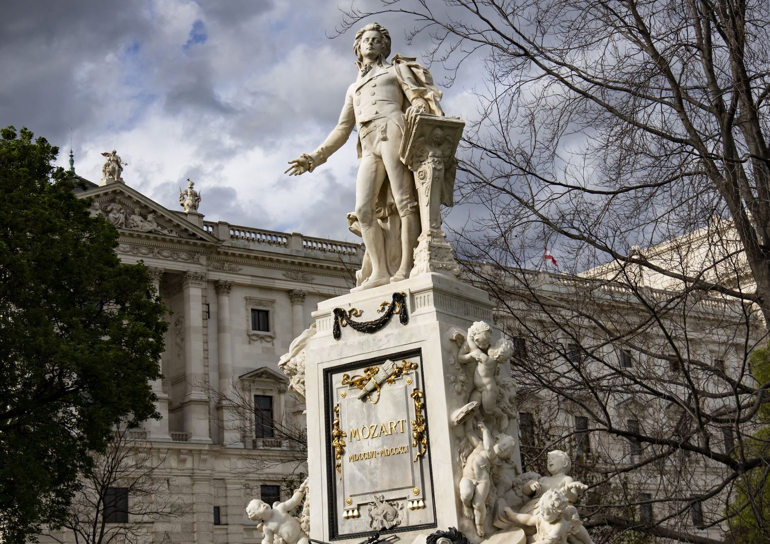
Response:
[[[594,544],[577,510],[564,493],[548,489],[537,501],[536,514],[517,513],[506,508],[504,516],[519,525],[536,529],[533,544]]]

